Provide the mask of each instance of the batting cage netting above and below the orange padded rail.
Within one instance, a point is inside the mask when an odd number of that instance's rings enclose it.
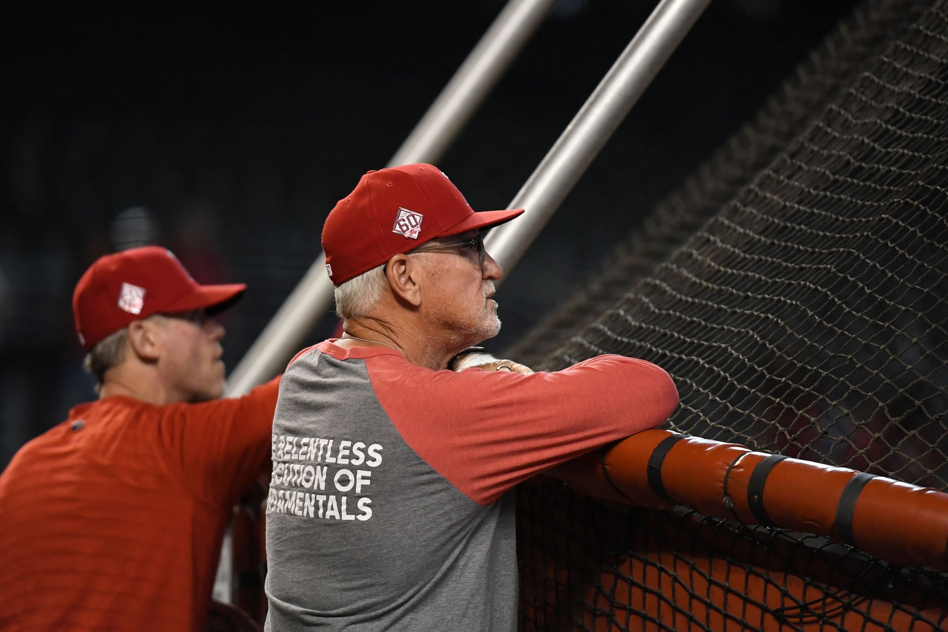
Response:
[[[645,358],[669,429],[948,490],[946,208],[948,10],[870,2],[508,356]],[[556,481],[519,511],[523,630],[948,629],[948,573],[811,534]]]

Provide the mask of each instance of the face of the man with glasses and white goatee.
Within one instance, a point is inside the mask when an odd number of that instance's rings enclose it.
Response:
[[[428,258],[425,308],[433,327],[446,332],[452,343],[470,346],[501,331],[494,296],[494,281],[503,270],[480,244],[471,230],[428,242],[418,248]],[[443,248],[443,249],[442,249]],[[482,254],[483,253],[483,262]]]

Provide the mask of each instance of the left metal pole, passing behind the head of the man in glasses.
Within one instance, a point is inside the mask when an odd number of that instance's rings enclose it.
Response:
[[[539,26],[554,0],[510,0],[474,46],[444,90],[389,161],[390,166],[435,162],[483,102],[523,45]],[[326,256],[319,259],[267,323],[228,377],[228,397],[276,375],[299,351],[333,302],[333,283],[326,276]]]

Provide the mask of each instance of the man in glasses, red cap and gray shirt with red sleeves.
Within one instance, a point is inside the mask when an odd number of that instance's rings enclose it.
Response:
[[[267,630],[516,630],[507,492],[677,406],[664,370],[616,355],[445,370],[500,330],[482,230],[521,212],[476,213],[436,167],[406,165],[366,173],[329,213],[343,334],[280,385]]]

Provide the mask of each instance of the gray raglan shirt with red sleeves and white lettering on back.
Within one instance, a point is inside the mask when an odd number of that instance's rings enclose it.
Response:
[[[265,629],[516,630],[506,492],[677,404],[665,370],[618,355],[520,375],[301,352],[273,420]]]

